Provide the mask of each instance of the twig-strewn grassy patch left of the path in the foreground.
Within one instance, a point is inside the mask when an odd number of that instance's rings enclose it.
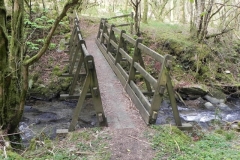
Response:
[[[111,155],[106,143],[108,138],[101,128],[92,128],[68,133],[66,138],[54,141],[35,139],[23,157],[34,160],[108,160]]]

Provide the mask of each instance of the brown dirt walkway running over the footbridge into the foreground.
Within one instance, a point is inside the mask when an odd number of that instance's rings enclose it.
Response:
[[[85,40],[88,52],[94,56],[102,103],[109,125],[105,130],[111,136],[111,159],[150,160],[154,151],[144,136],[148,127],[98,49],[95,43],[96,31],[97,28]]]

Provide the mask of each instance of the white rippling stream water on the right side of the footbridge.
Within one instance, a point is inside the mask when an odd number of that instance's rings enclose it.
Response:
[[[178,104],[178,110],[183,123],[193,122],[203,129],[208,129],[215,120],[221,123],[240,120],[239,99],[229,98],[224,105],[215,105],[215,109],[210,110],[203,107],[203,104],[199,105],[201,107]],[[156,124],[168,123],[174,124],[172,108],[169,102],[163,101]]]

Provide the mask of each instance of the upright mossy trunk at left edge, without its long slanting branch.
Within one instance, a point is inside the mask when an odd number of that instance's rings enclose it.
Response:
[[[23,59],[23,15],[24,1],[15,0],[12,10],[11,41],[9,44],[6,31],[6,11],[4,1],[1,0],[1,85],[0,85],[0,126],[6,133],[12,133],[18,126],[26,96],[24,84],[27,68],[22,66]],[[5,47],[4,47],[5,46]],[[3,52],[2,52],[3,51]]]

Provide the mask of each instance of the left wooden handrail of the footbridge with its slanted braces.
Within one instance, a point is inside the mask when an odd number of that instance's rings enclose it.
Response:
[[[73,31],[69,40],[69,70],[68,76],[72,76],[73,80],[69,87],[69,94],[60,95],[61,98],[78,97],[77,107],[74,109],[72,121],[69,127],[69,131],[75,130],[75,126],[78,121],[78,117],[83,106],[83,102],[87,97],[87,93],[90,90],[90,96],[93,98],[93,105],[96,111],[97,120],[100,126],[106,126],[107,120],[104,114],[99,85],[97,80],[96,68],[94,63],[94,57],[89,54],[86,43],[82,37],[81,29],[79,25],[79,17],[75,11]],[[80,74],[80,72],[85,73]],[[79,77],[84,79],[81,83],[81,92],[78,95],[74,95],[77,81]]]

